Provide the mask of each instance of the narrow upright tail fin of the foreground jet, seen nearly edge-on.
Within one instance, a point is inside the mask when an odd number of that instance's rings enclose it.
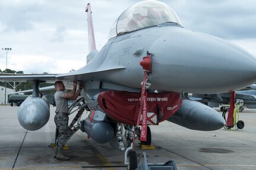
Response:
[[[91,6],[90,3],[86,6],[87,12],[87,23],[88,23],[88,38],[89,38],[89,52],[96,50],[94,30],[93,30],[93,17],[91,17]]]

